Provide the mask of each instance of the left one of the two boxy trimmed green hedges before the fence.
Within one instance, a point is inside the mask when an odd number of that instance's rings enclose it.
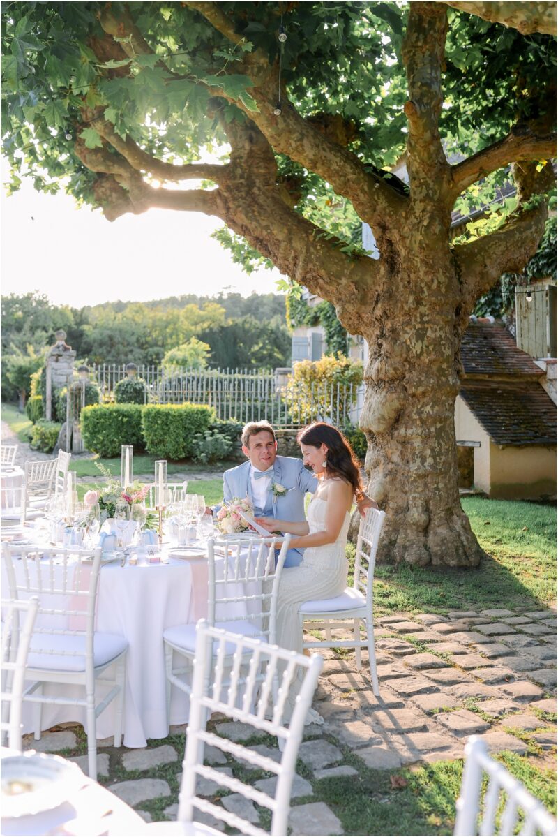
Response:
[[[120,455],[122,444],[134,449],[145,447],[141,430],[139,404],[93,404],[81,411],[81,434],[84,445],[100,456]]]

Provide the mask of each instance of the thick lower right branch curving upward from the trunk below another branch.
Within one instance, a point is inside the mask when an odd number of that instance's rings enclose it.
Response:
[[[504,273],[517,273],[535,254],[548,214],[545,192],[554,182],[547,163],[536,172],[535,163],[514,166],[520,205],[500,229],[453,249],[462,281],[463,310],[471,311],[479,296]]]

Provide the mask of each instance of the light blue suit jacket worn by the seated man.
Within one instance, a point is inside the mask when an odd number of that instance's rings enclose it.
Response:
[[[250,480],[250,461],[226,470],[223,474],[223,499],[226,503],[233,497],[248,497],[253,503],[252,480]],[[276,517],[282,521],[305,521],[305,494],[314,494],[318,480],[305,469],[302,460],[290,456],[278,456],[274,463],[273,482],[279,482],[289,489],[284,497],[274,497],[269,490],[268,502],[264,509],[254,506],[256,516]],[[302,561],[304,550],[289,549],[284,562],[285,567],[296,567]]]

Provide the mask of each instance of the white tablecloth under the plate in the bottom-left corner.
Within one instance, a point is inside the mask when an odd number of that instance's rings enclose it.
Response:
[[[2,747],[2,759],[18,751]],[[75,767],[78,772],[79,768]],[[142,834],[145,823],[136,811],[87,776],[69,788],[68,798],[40,814],[2,819],[2,834],[31,837],[35,834]]]

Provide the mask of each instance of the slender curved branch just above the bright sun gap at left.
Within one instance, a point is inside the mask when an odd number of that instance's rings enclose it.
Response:
[[[188,163],[177,166],[174,163],[157,160],[151,157],[146,151],[140,148],[128,134],[125,140],[116,133],[115,127],[106,120],[98,118],[94,120],[95,130],[100,136],[110,142],[110,145],[130,163],[131,167],[138,171],[149,172],[160,180],[212,180],[216,183],[223,182],[226,176],[227,166],[213,165],[210,163]]]

